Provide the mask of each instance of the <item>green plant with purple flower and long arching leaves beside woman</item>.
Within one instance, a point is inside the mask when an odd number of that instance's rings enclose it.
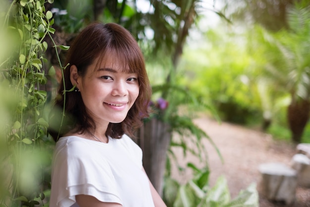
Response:
[[[165,99],[162,98],[163,94],[166,97]],[[200,110],[208,109],[219,121],[216,112],[207,104],[199,101],[194,91],[178,83],[157,83],[153,85],[153,98],[156,101],[151,104],[153,113],[150,119],[155,118],[168,124],[170,131],[174,133],[169,149],[171,157],[174,157],[171,147],[181,147],[184,155],[191,153],[201,160],[207,160],[207,151],[202,144],[202,139],[207,138],[215,148],[216,146],[207,133],[193,122],[193,119]],[[220,156],[219,152],[218,154]],[[169,163],[168,160],[168,173]]]

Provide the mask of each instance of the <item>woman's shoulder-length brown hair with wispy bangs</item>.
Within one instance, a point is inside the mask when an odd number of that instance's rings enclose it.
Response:
[[[78,74],[83,76],[95,59],[99,57],[100,61],[104,61],[104,57],[109,55],[116,55],[114,60],[121,61],[124,70],[129,68],[129,72],[138,74],[139,96],[125,120],[116,124],[109,123],[105,135],[112,138],[121,138],[123,134],[133,136],[133,131],[142,125],[142,118],[149,116],[148,104],[152,92],[144,57],[130,32],[115,23],[91,23],[73,41],[65,65],[75,65]],[[76,128],[80,133],[90,133],[90,130],[96,127],[86,111],[81,94],[75,91],[68,92],[74,87],[70,81],[70,66],[63,70],[63,79],[55,99],[55,108],[61,109],[60,111],[64,109],[65,113],[61,120],[59,116],[54,117],[50,125],[50,134],[55,141],[72,129]]]

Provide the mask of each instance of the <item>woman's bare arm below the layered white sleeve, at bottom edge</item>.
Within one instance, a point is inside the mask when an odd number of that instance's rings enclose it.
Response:
[[[88,195],[77,195],[75,200],[80,207],[122,207],[122,205],[117,203],[101,202],[95,197]]]

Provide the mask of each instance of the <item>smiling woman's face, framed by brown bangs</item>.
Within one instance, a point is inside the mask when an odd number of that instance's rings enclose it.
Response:
[[[98,60],[83,77],[78,76],[76,86],[96,124],[120,123],[139,95],[138,74],[123,72],[123,66],[111,58],[101,64]]]

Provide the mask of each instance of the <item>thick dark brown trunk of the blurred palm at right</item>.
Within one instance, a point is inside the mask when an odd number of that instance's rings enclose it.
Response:
[[[309,120],[310,102],[309,100],[295,101],[288,107],[288,124],[292,133],[292,140],[300,143],[304,129]]]

